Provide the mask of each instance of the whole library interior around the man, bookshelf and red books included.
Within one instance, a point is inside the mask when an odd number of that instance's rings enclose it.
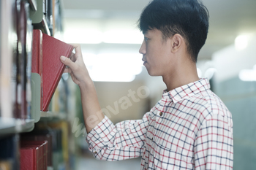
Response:
[[[140,157],[99,161],[89,151],[80,88],[60,56],[80,45],[113,124],[142,119],[166,88],[139,53],[150,1],[0,1],[0,170],[140,169]],[[209,29],[197,74],[232,114],[233,169],[255,169],[256,1],[201,1]]]

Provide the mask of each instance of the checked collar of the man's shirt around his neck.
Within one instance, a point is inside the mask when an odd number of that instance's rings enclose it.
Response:
[[[173,103],[176,104],[178,103],[178,101],[190,98],[191,96],[194,96],[195,94],[208,89],[210,89],[210,83],[208,79],[201,78],[196,82],[191,82],[187,85],[183,85],[170,91],[167,91],[167,89],[165,89],[163,91],[162,98],[171,99],[173,100]]]

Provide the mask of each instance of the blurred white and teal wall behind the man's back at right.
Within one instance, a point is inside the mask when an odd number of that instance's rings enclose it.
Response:
[[[256,81],[241,80],[241,71],[252,71],[256,64],[255,38],[243,50],[230,45],[213,56],[214,92],[233,115],[234,170],[256,167]]]

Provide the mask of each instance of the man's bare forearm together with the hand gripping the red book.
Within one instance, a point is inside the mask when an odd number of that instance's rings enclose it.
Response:
[[[64,72],[68,72],[73,82],[79,85],[83,107],[83,118],[88,133],[103,120],[104,115],[99,106],[94,83],[83,62],[81,47],[80,45],[73,45],[73,47],[75,47],[75,54],[72,54],[70,58],[61,56],[60,60],[66,66],[69,66]]]

